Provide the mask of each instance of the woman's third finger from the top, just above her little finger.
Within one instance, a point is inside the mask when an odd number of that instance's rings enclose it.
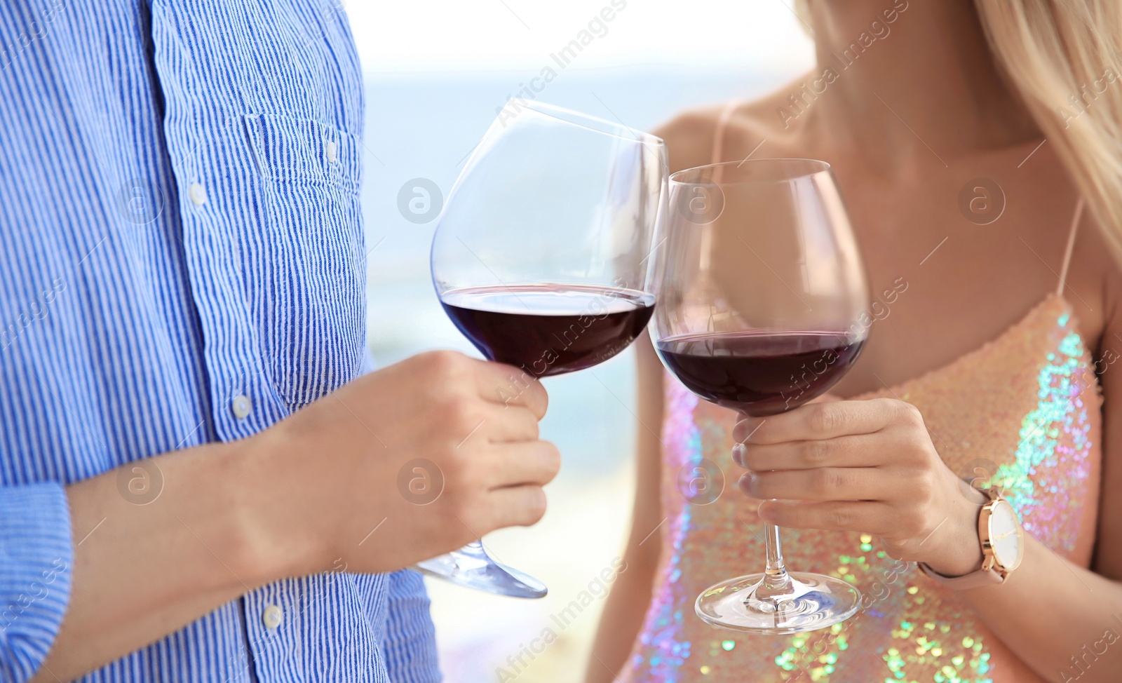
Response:
[[[751,471],[741,477],[741,490],[752,498],[782,500],[882,500],[893,477],[879,468],[816,468]]]

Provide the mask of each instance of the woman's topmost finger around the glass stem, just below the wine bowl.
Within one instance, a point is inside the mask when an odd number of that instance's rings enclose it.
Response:
[[[913,408],[894,398],[807,404],[770,417],[746,417],[733,427],[733,439],[763,444],[872,434],[905,410]]]

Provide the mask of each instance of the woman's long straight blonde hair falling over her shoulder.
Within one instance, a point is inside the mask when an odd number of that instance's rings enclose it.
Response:
[[[1122,256],[1122,2],[974,0],[999,68]],[[809,18],[809,0],[795,0]]]

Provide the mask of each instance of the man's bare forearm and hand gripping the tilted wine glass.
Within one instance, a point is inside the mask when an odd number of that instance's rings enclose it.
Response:
[[[544,389],[503,398],[508,372],[457,353],[421,354],[248,439],[73,484],[71,594],[37,680],[92,671],[240,594],[337,560],[356,573],[395,572],[463,545],[471,529],[536,523],[561,455],[537,439]],[[427,505],[397,486],[422,458],[444,478]],[[157,478],[145,464],[159,468],[154,499]],[[456,518],[463,524],[448,524]]]

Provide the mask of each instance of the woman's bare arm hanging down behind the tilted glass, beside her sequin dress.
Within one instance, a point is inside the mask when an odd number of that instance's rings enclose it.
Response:
[[[608,683],[626,664],[632,643],[643,627],[651,584],[662,548],[660,500],[662,443],[662,364],[646,332],[635,340],[638,371],[638,452],[635,509],[624,551],[624,569],[611,585],[588,661],[587,683]]]

